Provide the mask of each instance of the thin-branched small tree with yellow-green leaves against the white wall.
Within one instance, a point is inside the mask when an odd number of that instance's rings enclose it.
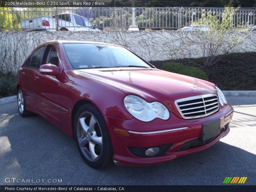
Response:
[[[203,55],[204,68],[212,66],[219,61],[223,54],[229,53],[242,43],[238,29],[234,28],[233,18],[237,9],[226,7],[222,13],[221,23],[216,17],[216,12],[204,12],[198,24],[204,24],[209,30],[196,31],[197,42]],[[236,23],[236,25],[240,25]],[[246,38],[244,36],[243,38]]]

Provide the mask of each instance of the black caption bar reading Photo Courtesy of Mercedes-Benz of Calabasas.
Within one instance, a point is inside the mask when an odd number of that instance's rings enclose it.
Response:
[[[107,191],[119,191],[119,192],[236,192],[236,191],[246,191],[255,192],[256,186],[238,184],[238,185],[1,185],[1,192],[107,192]]]

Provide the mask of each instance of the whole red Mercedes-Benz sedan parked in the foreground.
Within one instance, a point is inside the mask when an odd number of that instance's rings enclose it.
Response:
[[[20,115],[71,135],[93,168],[150,165],[211,147],[233,108],[214,84],[156,69],[117,45],[49,41],[18,71]]]

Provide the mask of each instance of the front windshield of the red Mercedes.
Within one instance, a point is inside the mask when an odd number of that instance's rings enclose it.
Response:
[[[73,69],[133,66],[151,68],[123,47],[87,43],[64,43],[63,46]]]

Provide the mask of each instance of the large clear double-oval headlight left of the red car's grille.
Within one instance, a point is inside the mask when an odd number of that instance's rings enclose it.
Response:
[[[167,120],[170,117],[168,109],[162,103],[156,101],[148,103],[135,95],[125,96],[124,106],[132,116],[144,122],[155,118]]]

